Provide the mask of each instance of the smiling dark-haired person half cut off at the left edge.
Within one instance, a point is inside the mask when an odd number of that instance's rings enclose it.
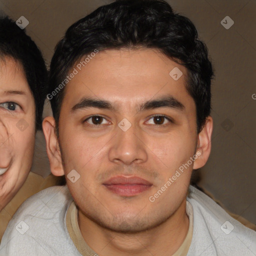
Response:
[[[29,172],[46,89],[40,50],[13,20],[0,17],[0,239],[17,207],[44,182]],[[28,175],[30,185],[18,195]]]

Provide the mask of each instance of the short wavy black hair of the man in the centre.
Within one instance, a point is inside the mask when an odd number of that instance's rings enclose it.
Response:
[[[211,109],[211,62],[193,23],[174,13],[163,0],[116,0],[72,24],[56,45],[48,93],[61,84],[76,61],[95,49],[137,47],[160,50],[186,67],[186,89],[195,102],[199,132]],[[64,91],[61,89],[50,100],[57,134]]]

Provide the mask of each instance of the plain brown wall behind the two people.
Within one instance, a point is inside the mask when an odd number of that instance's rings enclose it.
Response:
[[[108,0],[0,0],[0,10],[13,19],[25,16],[27,33],[49,63],[66,28]],[[209,49],[215,69],[212,83],[214,130],[212,152],[199,170],[199,185],[230,211],[256,223],[256,1],[168,0],[176,12],[189,17]],[[225,29],[220,21],[234,24]],[[256,95],[255,95],[256,98]],[[46,105],[44,114],[50,113]],[[33,170],[49,171],[38,133]]]

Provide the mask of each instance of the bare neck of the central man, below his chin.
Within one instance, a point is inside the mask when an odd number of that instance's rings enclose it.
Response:
[[[123,234],[99,226],[78,209],[78,224],[86,243],[100,256],[172,255],[184,241],[189,219],[186,199],[162,224],[149,230]]]

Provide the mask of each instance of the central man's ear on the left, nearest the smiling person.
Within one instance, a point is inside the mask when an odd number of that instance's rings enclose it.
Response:
[[[43,119],[42,130],[46,140],[46,150],[51,173],[55,176],[62,176],[64,175],[64,170],[61,162],[59,144],[55,134],[55,120],[52,116],[47,116]]]

